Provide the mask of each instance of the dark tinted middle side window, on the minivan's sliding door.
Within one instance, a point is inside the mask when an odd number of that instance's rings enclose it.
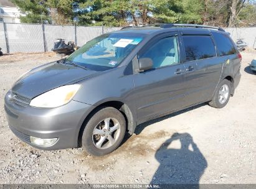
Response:
[[[208,35],[184,35],[186,62],[216,57],[216,48]]]

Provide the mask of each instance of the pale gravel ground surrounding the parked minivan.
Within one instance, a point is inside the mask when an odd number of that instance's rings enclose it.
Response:
[[[223,109],[201,104],[140,125],[115,152],[37,150],[10,131],[4,95],[53,53],[0,57],[0,183],[256,183],[256,75],[242,53],[242,79]]]

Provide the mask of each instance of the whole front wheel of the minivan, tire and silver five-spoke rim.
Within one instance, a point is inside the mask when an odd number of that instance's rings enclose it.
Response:
[[[110,154],[123,141],[126,122],[118,109],[107,107],[95,113],[88,121],[82,136],[82,148],[91,155]]]

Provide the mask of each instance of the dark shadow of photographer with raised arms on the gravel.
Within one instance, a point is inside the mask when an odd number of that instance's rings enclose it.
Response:
[[[181,149],[169,149],[168,146],[176,140],[181,142]],[[178,185],[182,188],[199,188],[199,180],[207,167],[207,161],[190,134],[174,133],[159,147],[155,158],[160,165],[151,184],[174,184],[174,188]]]

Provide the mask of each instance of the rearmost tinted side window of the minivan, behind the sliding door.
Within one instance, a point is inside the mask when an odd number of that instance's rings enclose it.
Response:
[[[212,35],[216,40],[216,45],[219,50],[220,56],[232,55],[236,53],[235,47],[227,35],[215,32],[212,32]]]

